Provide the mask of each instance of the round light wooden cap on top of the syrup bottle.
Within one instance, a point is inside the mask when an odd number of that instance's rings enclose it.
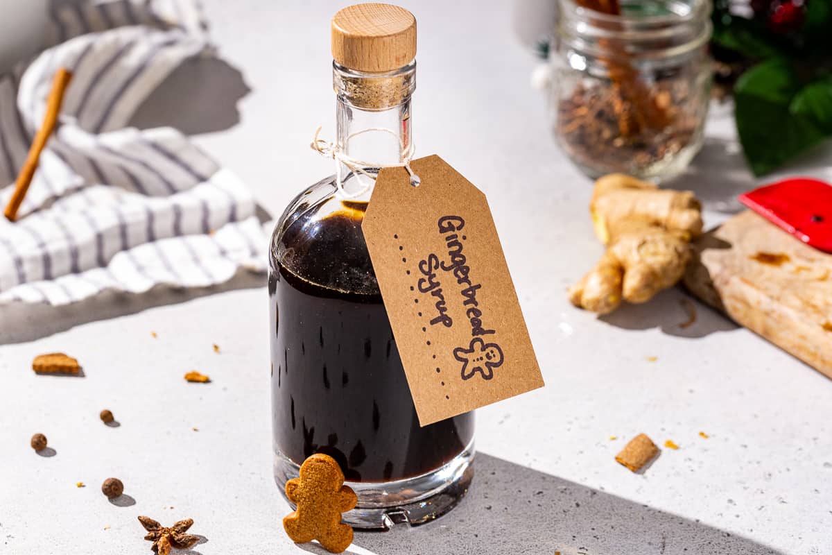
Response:
[[[332,57],[358,72],[392,72],[416,57],[416,18],[404,7],[356,4],[332,18]]]

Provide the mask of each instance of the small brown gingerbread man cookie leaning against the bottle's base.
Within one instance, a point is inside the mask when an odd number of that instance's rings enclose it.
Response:
[[[341,513],[358,503],[344,485],[344,473],[335,459],[317,453],[300,466],[300,478],[286,482],[286,496],[297,509],[283,519],[283,528],[295,543],[316,539],[330,553],[341,553],[353,543],[353,529],[341,523]]]

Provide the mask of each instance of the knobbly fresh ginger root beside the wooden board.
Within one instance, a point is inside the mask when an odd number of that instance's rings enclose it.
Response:
[[[702,233],[701,205],[691,191],[662,190],[620,173],[595,182],[590,212],[607,252],[569,288],[569,300],[598,314],[676,285],[691,257],[688,243]]]

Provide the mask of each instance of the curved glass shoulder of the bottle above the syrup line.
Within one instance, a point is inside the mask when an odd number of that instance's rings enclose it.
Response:
[[[344,199],[334,176],[301,191],[275,225],[271,268],[324,289],[378,295],[361,232],[366,207]]]

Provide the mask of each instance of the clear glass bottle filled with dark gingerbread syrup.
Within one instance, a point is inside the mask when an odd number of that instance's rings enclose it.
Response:
[[[357,528],[435,518],[458,503],[473,475],[473,413],[418,424],[361,233],[379,166],[411,149],[415,88],[413,16],[374,6],[359,12],[363,28],[409,18],[412,52],[376,52],[382,69],[398,64],[386,71],[342,65],[349,56],[336,47],[335,22],[361,6],[345,8],[333,22],[333,82],[337,148],[375,166],[339,163],[291,201],[271,238],[269,270],[275,480],[282,491],[305,458],[329,454],[358,494],[344,514]],[[379,20],[379,6],[395,11]]]

